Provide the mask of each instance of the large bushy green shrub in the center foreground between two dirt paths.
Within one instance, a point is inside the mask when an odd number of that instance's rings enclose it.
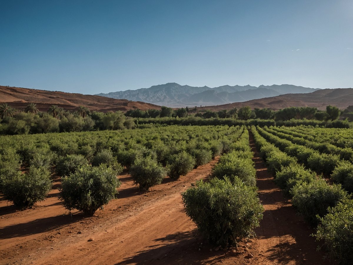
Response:
[[[186,214],[216,246],[231,246],[259,226],[263,207],[257,193],[239,178],[197,181],[181,193]]]

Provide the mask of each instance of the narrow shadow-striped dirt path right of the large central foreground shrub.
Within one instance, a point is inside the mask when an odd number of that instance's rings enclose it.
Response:
[[[254,152],[258,195],[265,212],[256,229],[261,264],[330,264],[323,260],[324,253],[317,252],[318,243],[310,236],[315,231],[299,217],[289,200],[273,182],[259,157],[253,137],[250,147]]]

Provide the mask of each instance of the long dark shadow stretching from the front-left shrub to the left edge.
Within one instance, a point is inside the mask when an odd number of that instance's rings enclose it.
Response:
[[[86,216],[84,216],[82,213],[72,215],[65,214],[40,218],[28,223],[8,225],[0,228],[0,239],[22,237],[47,232],[67,226],[84,218],[86,218]]]

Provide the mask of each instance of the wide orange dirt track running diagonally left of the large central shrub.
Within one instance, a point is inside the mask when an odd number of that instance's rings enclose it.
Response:
[[[68,214],[52,190],[47,200],[16,211],[0,201],[1,264],[247,264],[258,259],[256,240],[210,251],[186,216],[180,192],[208,177],[218,158],[142,194],[127,173],[119,198],[93,217]],[[56,182],[57,184],[58,182]],[[251,255],[250,255],[251,254]],[[257,262],[256,262],[257,263]]]

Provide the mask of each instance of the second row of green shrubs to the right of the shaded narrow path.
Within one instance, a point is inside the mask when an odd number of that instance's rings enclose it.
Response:
[[[353,165],[350,161],[341,160],[337,154],[319,153],[310,147],[292,143],[262,128],[257,128],[257,130],[280,150],[297,158],[300,164],[319,174],[330,176],[335,183],[342,184],[342,187],[349,193],[353,192]]]

